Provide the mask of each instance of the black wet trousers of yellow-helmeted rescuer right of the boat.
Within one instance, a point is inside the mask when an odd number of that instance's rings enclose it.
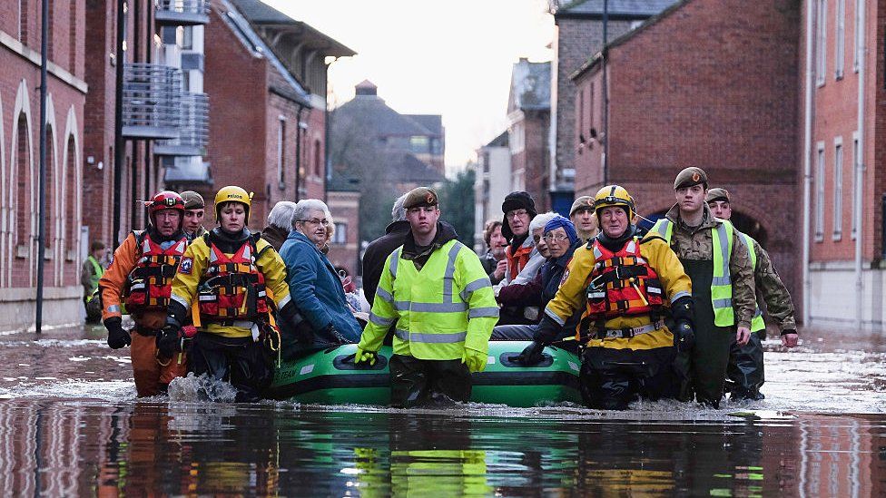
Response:
[[[674,347],[613,349],[588,347],[579,372],[585,404],[601,410],[626,410],[637,399],[676,398]]]

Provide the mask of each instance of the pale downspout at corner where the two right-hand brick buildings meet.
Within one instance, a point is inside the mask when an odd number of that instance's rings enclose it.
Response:
[[[802,323],[809,327],[809,297],[812,282],[809,278],[809,254],[812,216],[812,95],[814,92],[812,67],[812,41],[814,34],[814,13],[812,0],[806,0],[806,95],[803,112],[803,207],[802,207]]]

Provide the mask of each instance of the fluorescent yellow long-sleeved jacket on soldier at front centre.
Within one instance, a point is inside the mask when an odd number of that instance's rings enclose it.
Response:
[[[498,305],[477,254],[449,240],[419,271],[402,250],[385,261],[361,347],[378,351],[396,323],[396,355],[449,360],[460,359],[465,347],[487,352]]]

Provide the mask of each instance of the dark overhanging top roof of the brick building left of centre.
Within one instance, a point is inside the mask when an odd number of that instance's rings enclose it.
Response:
[[[317,50],[325,55],[335,57],[349,57],[357,54],[338,40],[321,33],[307,23],[292,19],[289,15],[283,14],[260,0],[230,0],[230,2],[237,6],[237,10],[251,24],[292,34],[304,43],[306,49]]]

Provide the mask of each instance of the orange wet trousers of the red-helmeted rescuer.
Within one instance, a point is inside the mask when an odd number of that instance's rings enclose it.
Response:
[[[166,393],[166,387],[175,377],[184,376],[188,371],[187,360],[182,354],[175,355],[172,359],[161,360],[157,358],[157,337],[143,335],[142,332],[133,330],[133,344],[130,346],[130,356],[133,358],[133,377],[135,377],[135,390],[139,397],[155,396]]]

